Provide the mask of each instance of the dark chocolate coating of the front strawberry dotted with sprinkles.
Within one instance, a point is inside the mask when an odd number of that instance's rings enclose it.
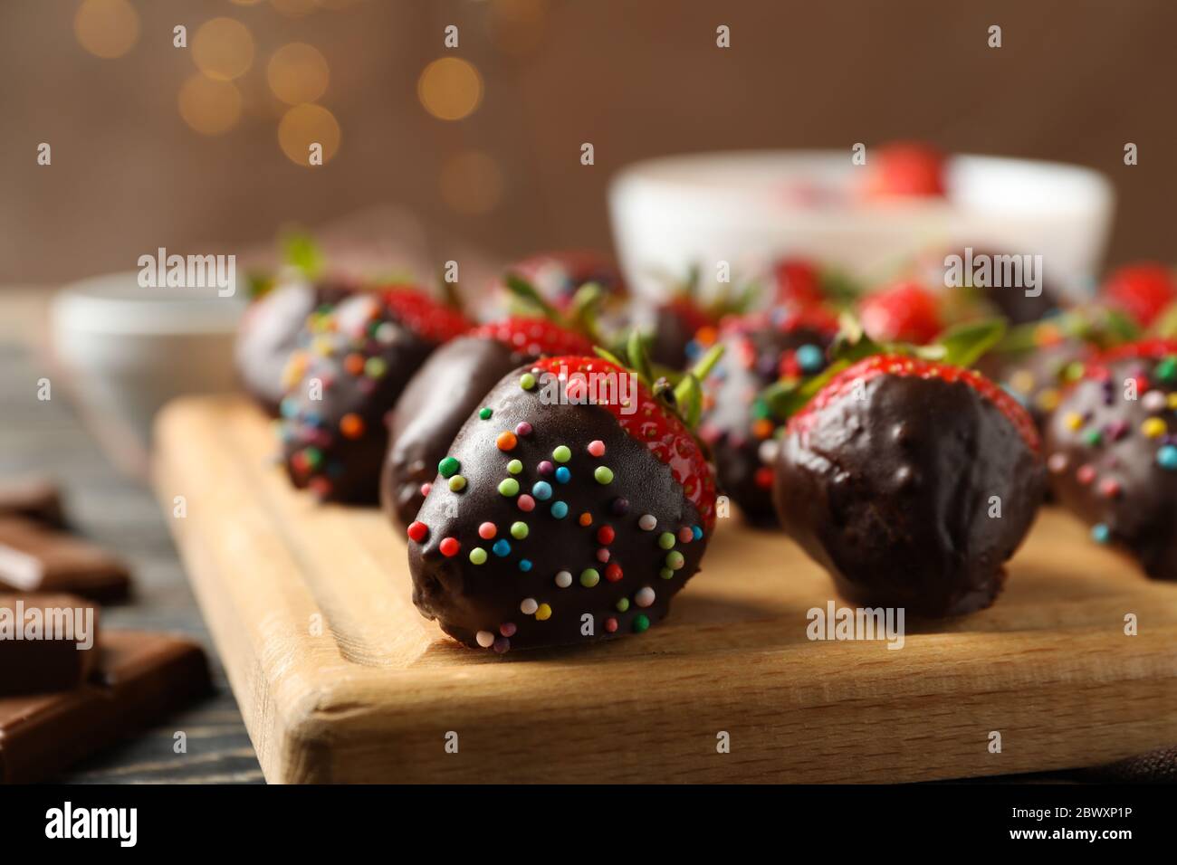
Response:
[[[476,412],[450,447],[448,455],[460,463],[465,487],[453,492],[438,475],[425,497],[417,519],[427,526],[428,535],[424,543],[408,541],[413,603],[425,617],[438,619],[446,633],[467,646],[500,652],[513,647],[579,645],[631,633],[641,630],[639,616],[650,624],[658,623],[666,616],[671,597],[698,571],[703,558],[707,537],[701,527],[691,531],[700,526],[698,511],[684,497],[670,467],[625,433],[609,410],[545,404],[539,395],[541,388],[520,387],[520,375],[527,371],[525,365],[505,375],[483,400],[483,407],[492,411],[491,417],[483,419]],[[511,451],[499,450],[497,437],[514,431],[520,422],[531,424],[532,431],[517,435]],[[605,444],[605,453],[599,458],[587,451],[594,440]],[[563,464],[571,471],[566,483],[539,470],[545,460],[553,467],[561,465],[553,458],[560,445],[572,453]],[[519,474],[507,471],[512,459],[523,464]],[[598,483],[594,478],[598,466],[613,471],[611,483]],[[519,494],[501,494],[500,481],[512,477],[519,483]],[[533,492],[537,481],[551,486],[548,499],[541,492]],[[534,501],[533,510],[520,507],[524,495]],[[557,501],[567,505],[563,518],[552,513]],[[591,525],[581,524],[581,514],[591,517]],[[657,519],[657,526],[650,531],[639,525],[645,514]],[[510,528],[517,521],[528,527],[523,540],[511,535]],[[496,526],[493,538],[480,537],[484,523]],[[614,532],[609,544],[603,544],[598,535],[605,526]],[[683,530],[692,535],[690,540],[681,539]],[[667,532],[673,540],[670,550],[659,543]],[[440,552],[446,538],[460,544],[453,557]],[[506,555],[494,552],[498,540],[510,544]],[[486,552],[481,565],[470,559],[474,547]],[[609,552],[607,561],[598,558],[601,550]],[[663,574],[672,551],[681,554],[683,565],[667,578]],[[527,570],[521,570],[521,560],[530,563],[524,566]],[[607,577],[612,564],[621,570],[616,581]],[[599,581],[591,587],[580,581],[586,568],[599,573]],[[567,587],[557,584],[560,572],[571,574]],[[643,590],[653,592],[649,606],[638,604]],[[541,620],[524,612],[521,604],[527,599],[546,604],[550,618]],[[619,610],[619,604],[627,608]],[[591,633],[585,633],[581,618],[585,614],[592,617]],[[610,620],[616,631],[609,630]],[[493,637],[493,646],[481,645],[479,632],[485,641]]]

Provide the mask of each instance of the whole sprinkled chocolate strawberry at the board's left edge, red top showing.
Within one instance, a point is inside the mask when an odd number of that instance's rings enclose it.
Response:
[[[286,370],[278,432],[294,485],[325,500],[375,501],[385,414],[433,350],[468,327],[414,287],[339,304]]]

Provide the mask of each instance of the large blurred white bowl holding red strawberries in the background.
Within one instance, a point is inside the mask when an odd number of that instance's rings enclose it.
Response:
[[[870,153],[867,152],[867,160]],[[947,161],[947,198],[865,202],[850,152],[666,157],[623,169],[610,187],[621,266],[639,293],[657,273],[730,262],[757,272],[783,254],[885,278],[917,254],[972,246],[1042,254],[1046,281],[1082,291],[1097,273],[1115,195],[1089,168],[995,157]]]

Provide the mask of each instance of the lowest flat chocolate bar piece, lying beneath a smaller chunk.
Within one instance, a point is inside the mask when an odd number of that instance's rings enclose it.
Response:
[[[205,653],[191,640],[108,631],[91,684],[0,698],[0,784],[52,778],[128,732],[162,720],[211,687]]]

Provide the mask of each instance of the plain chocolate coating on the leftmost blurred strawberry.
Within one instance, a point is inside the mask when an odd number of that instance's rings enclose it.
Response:
[[[268,414],[278,414],[286,393],[282,372],[308,338],[307,317],[330,310],[354,291],[345,282],[293,282],[271,290],[246,310],[234,346],[237,372],[246,393]]]

